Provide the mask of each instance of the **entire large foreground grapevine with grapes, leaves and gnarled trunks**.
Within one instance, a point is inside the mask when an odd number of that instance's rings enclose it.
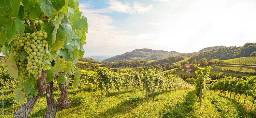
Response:
[[[19,81],[14,92],[22,103],[22,90],[27,102],[14,118],[28,118],[31,109],[46,91],[45,118],[69,107],[69,76],[74,74],[73,88],[78,87],[80,71],[74,69],[83,57],[88,31],[87,18],[79,3],[73,0],[3,0],[0,2],[0,48],[8,56],[4,63],[12,78]],[[51,67],[51,68],[50,68]],[[19,74],[18,74],[19,73]],[[53,95],[53,79],[61,91]]]

